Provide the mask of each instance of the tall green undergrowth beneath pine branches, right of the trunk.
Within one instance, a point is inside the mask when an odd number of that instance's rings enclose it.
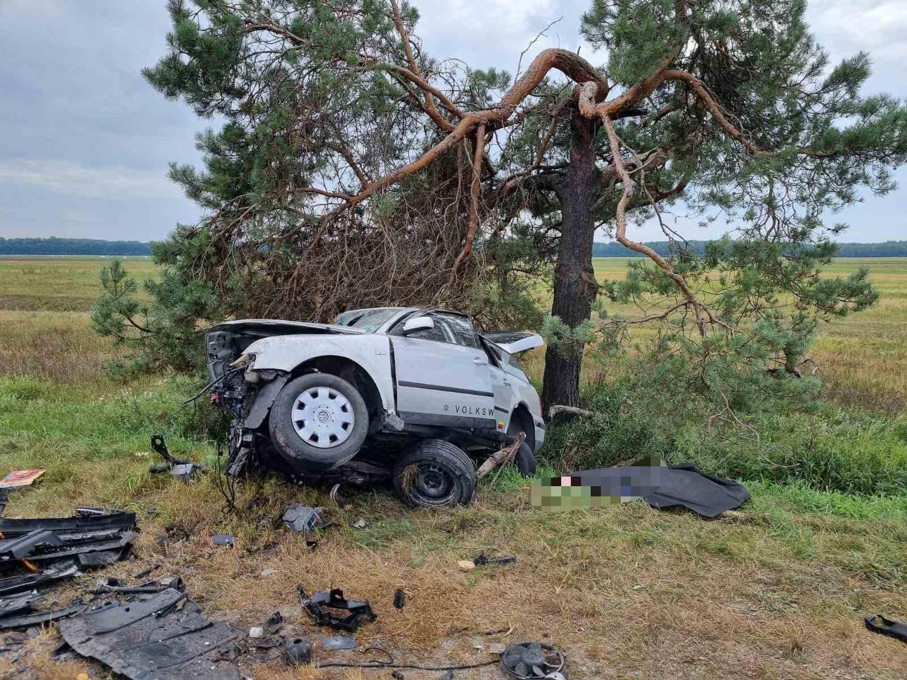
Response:
[[[591,386],[582,405],[594,415],[549,428],[541,458],[558,471],[691,461],[740,481],[861,494],[907,491],[904,418],[829,403],[797,410],[779,402],[715,419],[706,398],[678,400],[633,379]]]

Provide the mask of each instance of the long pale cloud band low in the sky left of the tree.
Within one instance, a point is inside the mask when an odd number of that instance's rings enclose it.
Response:
[[[0,182],[89,198],[141,198],[179,189],[165,175],[126,167],[90,167],[70,160],[0,160]]]

